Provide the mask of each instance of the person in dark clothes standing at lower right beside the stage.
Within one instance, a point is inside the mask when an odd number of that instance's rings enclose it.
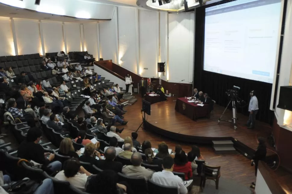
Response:
[[[257,167],[259,165],[259,160],[264,160],[266,159],[266,155],[267,155],[267,146],[266,146],[266,141],[265,138],[263,137],[258,137],[256,142],[259,144],[256,152],[253,155],[253,159],[251,160],[251,165],[255,165],[255,174],[257,173]],[[250,188],[255,188],[255,183],[251,183]]]

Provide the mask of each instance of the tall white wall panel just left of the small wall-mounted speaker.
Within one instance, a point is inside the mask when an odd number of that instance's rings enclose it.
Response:
[[[157,76],[158,22],[156,11],[139,10],[139,74],[143,77]]]

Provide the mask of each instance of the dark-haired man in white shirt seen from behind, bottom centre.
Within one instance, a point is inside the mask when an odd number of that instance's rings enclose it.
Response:
[[[178,194],[187,194],[188,189],[186,188],[183,180],[172,173],[174,166],[174,160],[171,156],[166,156],[162,159],[162,172],[154,172],[151,180],[154,183],[163,185],[163,186],[175,186],[178,188]],[[188,185],[191,184],[191,181],[188,181]]]

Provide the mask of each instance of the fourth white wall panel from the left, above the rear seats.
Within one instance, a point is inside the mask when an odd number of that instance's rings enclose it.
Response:
[[[79,23],[65,23],[67,51],[82,51]]]

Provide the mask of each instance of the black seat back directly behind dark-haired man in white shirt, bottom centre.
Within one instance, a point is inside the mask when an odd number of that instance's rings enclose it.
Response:
[[[157,183],[154,183],[152,180],[147,180],[147,187],[148,187],[148,193],[151,194],[161,194],[161,193],[167,193],[167,194],[177,194],[178,188],[176,186],[164,186]]]

